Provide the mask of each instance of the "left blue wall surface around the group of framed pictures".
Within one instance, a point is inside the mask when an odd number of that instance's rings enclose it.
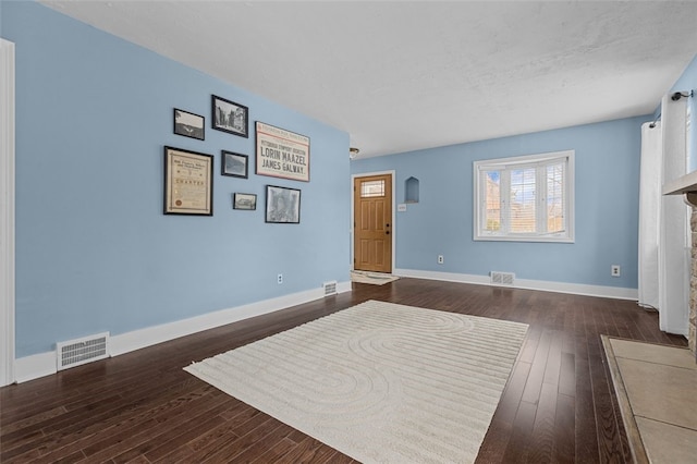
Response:
[[[0,27],[16,44],[17,357],[348,280],[346,133],[34,2],[2,2]],[[211,94],[249,107],[249,138],[210,127]],[[206,117],[205,142],[172,133],[174,107]],[[254,174],[257,120],[310,137],[309,183]],[[215,156],[213,217],[162,215],[164,145]],[[250,156],[248,180],[220,175],[222,149]],[[299,225],[265,223],[266,184],[302,190]]]

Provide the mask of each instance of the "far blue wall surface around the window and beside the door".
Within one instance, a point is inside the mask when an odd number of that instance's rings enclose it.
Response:
[[[353,174],[395,170],[420,181],[396,213],[396,268],[636,289],[640,124],[650,115],[354,160]],[[473,241],[473,161],[573,149],[575,243]],[[444,264],[437,256],[444,255]],[[610,267],[622,266],[612,278]]]

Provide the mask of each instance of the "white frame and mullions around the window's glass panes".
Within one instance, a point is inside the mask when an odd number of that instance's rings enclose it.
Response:
[[[473,166],[474,174],[474,240],[475,241],[502,241],[502,242],[557,242],[557,243],[574,243],[575,228],[574,228],[574,150],[553,151],[539,155],[527,155],[511,158],[498,158],[475,161]],[[509,171],[512,169],[521,169],[524,167],[541,167],[560,160],[565,161],[565,183],[564,183],[564,212],[566,227],[563,232],[557,233],[510,233],[506,232],[506,225],[503,225],[503,231],[492,232],[484,229],[486,225],[486,188],[485,182],[481,182],[482,171],[499,170],[502,172],[501,182],[501,198],[508,198],[510,195],[510,176]],[[504,179],[505,178],[505,179]],[[504,180],[506,182],[504,182]],[[536,184],[539,184],[540,175],[536,178]],[[546,210],[546,195],[540,195],[536,198],[536,210]],[[505,200],[504,200],[505,202]],[[540,225],[545,224],[541,219],[541,215],[538,215],[536,220],[538,221],[537,230],[540,230]]]

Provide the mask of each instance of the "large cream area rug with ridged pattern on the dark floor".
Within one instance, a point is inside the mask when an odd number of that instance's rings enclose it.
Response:
[[[526,331],[369,301],[185,370],[363,463],[470,463]]]

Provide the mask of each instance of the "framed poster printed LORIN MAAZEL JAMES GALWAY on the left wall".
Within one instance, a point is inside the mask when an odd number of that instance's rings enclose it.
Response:
[[[309,137],[257,121],[257,174],[309,182]]]

